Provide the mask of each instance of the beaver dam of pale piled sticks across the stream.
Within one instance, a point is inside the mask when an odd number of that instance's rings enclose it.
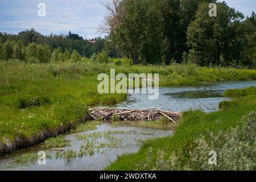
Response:
[[[147,109],[90,109],[90,118],[92,120],[108,121],[114,117],[121,121],[158,121],[162,117],[167,118],[170,122],[176,123],[181,113],[172,111],[163,111],[155,108]]]

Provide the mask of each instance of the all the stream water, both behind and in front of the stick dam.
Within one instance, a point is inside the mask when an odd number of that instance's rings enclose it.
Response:
[[[147,94],[130,94],[129,99],[115,107],[122,109],[143,109],[147,107],[156,107],[162,110],[184,111],[188,109],[202,109],[206,112],[218,109],[218,103],[229,98],[222,97],[225,90],[241,89],[249,86],[256,86],[256,81],[240,81],[240,82],[217,82],[213,84],[203,84],[200,86],[175,86],[160,87],[158,100],[147,100]],[[113,128],[109,123],[98,126],[95,130],[100,133],[106,131],[120,131],[121,133],[112,133],[116,138],[122,139],[119,147],[106,147],[103,150],[105,154],[94,154],[92,156],[84,156],[67,162],[64,159],[55,159],[55,151],[48,150],[42,144],[31,148],[20,150],[13,155],[2,157],[0,159],[0,170],[101,170],[109,166],[110,163],[117,159],[118,155],[137,152],[141,146],[141,140],[152,139],[158,137],[171,136],[172,131],[143,129],[138,127],[118,127]],[[81,134],[88,134],[95,131],[88,131]],[[78,134],[67,134],[65,138],[71,140],[70,147],[64,147],[63,150],[79,151],[84,141],[76,138]],[[97,139],[98,142],[104,142],[104,138]],[[139,141],[139,142],[138,142]],[[39,165],[37,162],[29,166],[10,167],[16,155],[26,154],[28,152],[46,151],[52,159],[47,159],[47,165]]]

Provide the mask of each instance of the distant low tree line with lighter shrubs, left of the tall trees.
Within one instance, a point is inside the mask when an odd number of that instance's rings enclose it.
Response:
[[[15,34],[0,32],[0,59],[19,59],[48,63],[51,58],[62,61],[73,54],[91,57],[104,49],[105,39],[95,38],[92,44],[78,34],[44,36],[34,28]],[[51,56],[52,54],[52,56]],[[31,58],[32,57],[32,58]],[[35,59],[36,58],[36,59]]]

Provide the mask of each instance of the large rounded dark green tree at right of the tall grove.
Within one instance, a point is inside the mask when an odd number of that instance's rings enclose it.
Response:
[[[195,20],[187,31],[189,60],[200,65],[227,64],[240,59],[241,20],[243,15],[226,5],[217,3],[217,17],[208,15],[209,3],[201,3]]]

